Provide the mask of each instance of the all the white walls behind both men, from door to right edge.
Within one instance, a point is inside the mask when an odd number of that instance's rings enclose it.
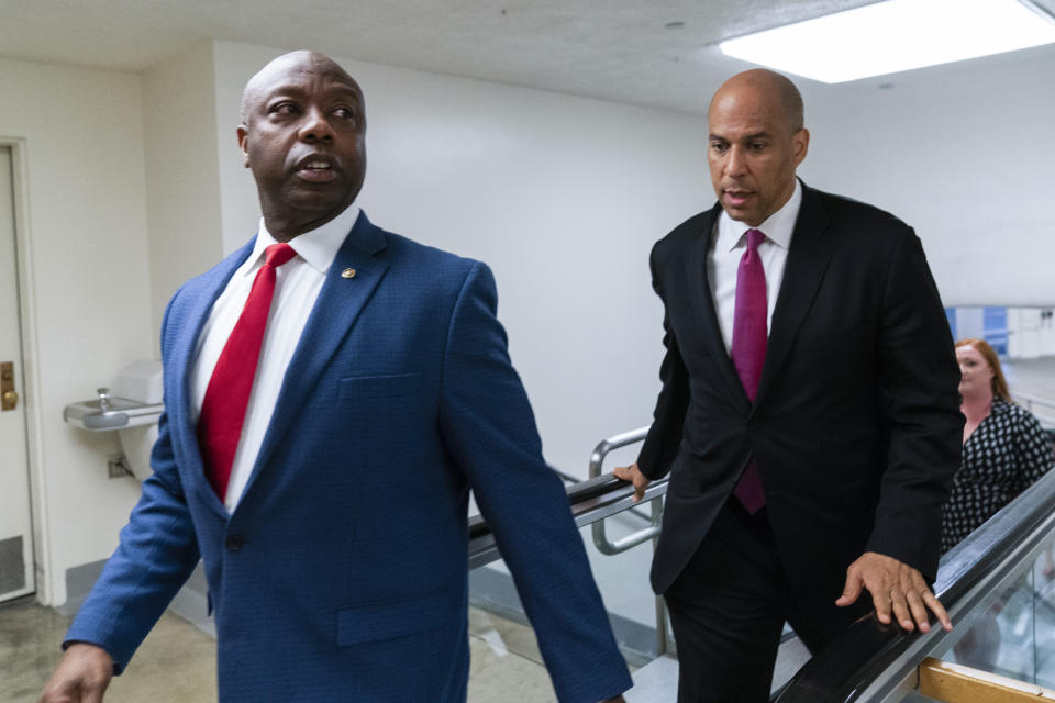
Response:
[[[152,356],[176,286],[255,230],[234,127],[245,80],[279,53],[202,44],[142,88],[0,60],[0,135],[27,141],[48,602],[65,600],[67,568],[110,553],[137,492],[106,479],[115,439],[66,426],[62,408]],[[546,457],[585,475],[596,442],[651,419],[662,311],[647,254],[713,202],[704,119],[338,60],[366,93],[362,204],[381,226],[493,267]],[[807,181],[917,226],[948,304],[1055,298],[1055,66],[1021,64],[890,90],[802,86]]]

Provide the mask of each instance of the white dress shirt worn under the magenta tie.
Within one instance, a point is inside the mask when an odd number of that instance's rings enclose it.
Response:
[[[714,297],[714,309],[718,312],[718,326],[722,330],[722,339],[725,349],[733,344],[733,315],[736,310],[736,271],[740,259],[747,246],[747,230],[758,230],[766,235],[758,245],[758,257],[762,268],[766,272],[766,334],[773,328],[773,310],[777,305],[777,293],[780,292],[780,282],[784,280],[784,267],[788,261],[788,247],[791,246],[791,233],[795,231],[795,221],[799,216],[799,207],[802,204],[802,185],[795,180],[795,192],[788,202],[769,215],[757,227],[736,222],[724,210],[719,215],[711,245],[707,257],[707,275],[711,282],[711,294]]]

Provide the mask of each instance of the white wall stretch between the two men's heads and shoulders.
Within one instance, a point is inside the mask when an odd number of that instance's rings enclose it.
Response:
[[[280,53],[215,45],[225,250],[259,216],[233,136],[242,87]],[[382,227],[493,268],[546,458],[585,476],[600,439],[651,422],[662,309],[648,250],[713,201],[704,123],[335,58],[366,96],[359,202]]]

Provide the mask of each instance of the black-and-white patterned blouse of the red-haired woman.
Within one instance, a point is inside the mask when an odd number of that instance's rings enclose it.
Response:
[[[1030,411],[993,399],[964,444],[942,515],[945,554],[1055,465],[1052,442]]]

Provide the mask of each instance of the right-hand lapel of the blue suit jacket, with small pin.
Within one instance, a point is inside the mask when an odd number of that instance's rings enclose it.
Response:
[[[385,233],[367,220],[366,213],[360,213],[326,272],[319,299],[286,369],[278,402],[245,487],[243,501],[275,453],[275,447],[296,423],[319,377],[388,270],[385,244]],[[342,275],[348,269],[355,270],[354,276]]]

